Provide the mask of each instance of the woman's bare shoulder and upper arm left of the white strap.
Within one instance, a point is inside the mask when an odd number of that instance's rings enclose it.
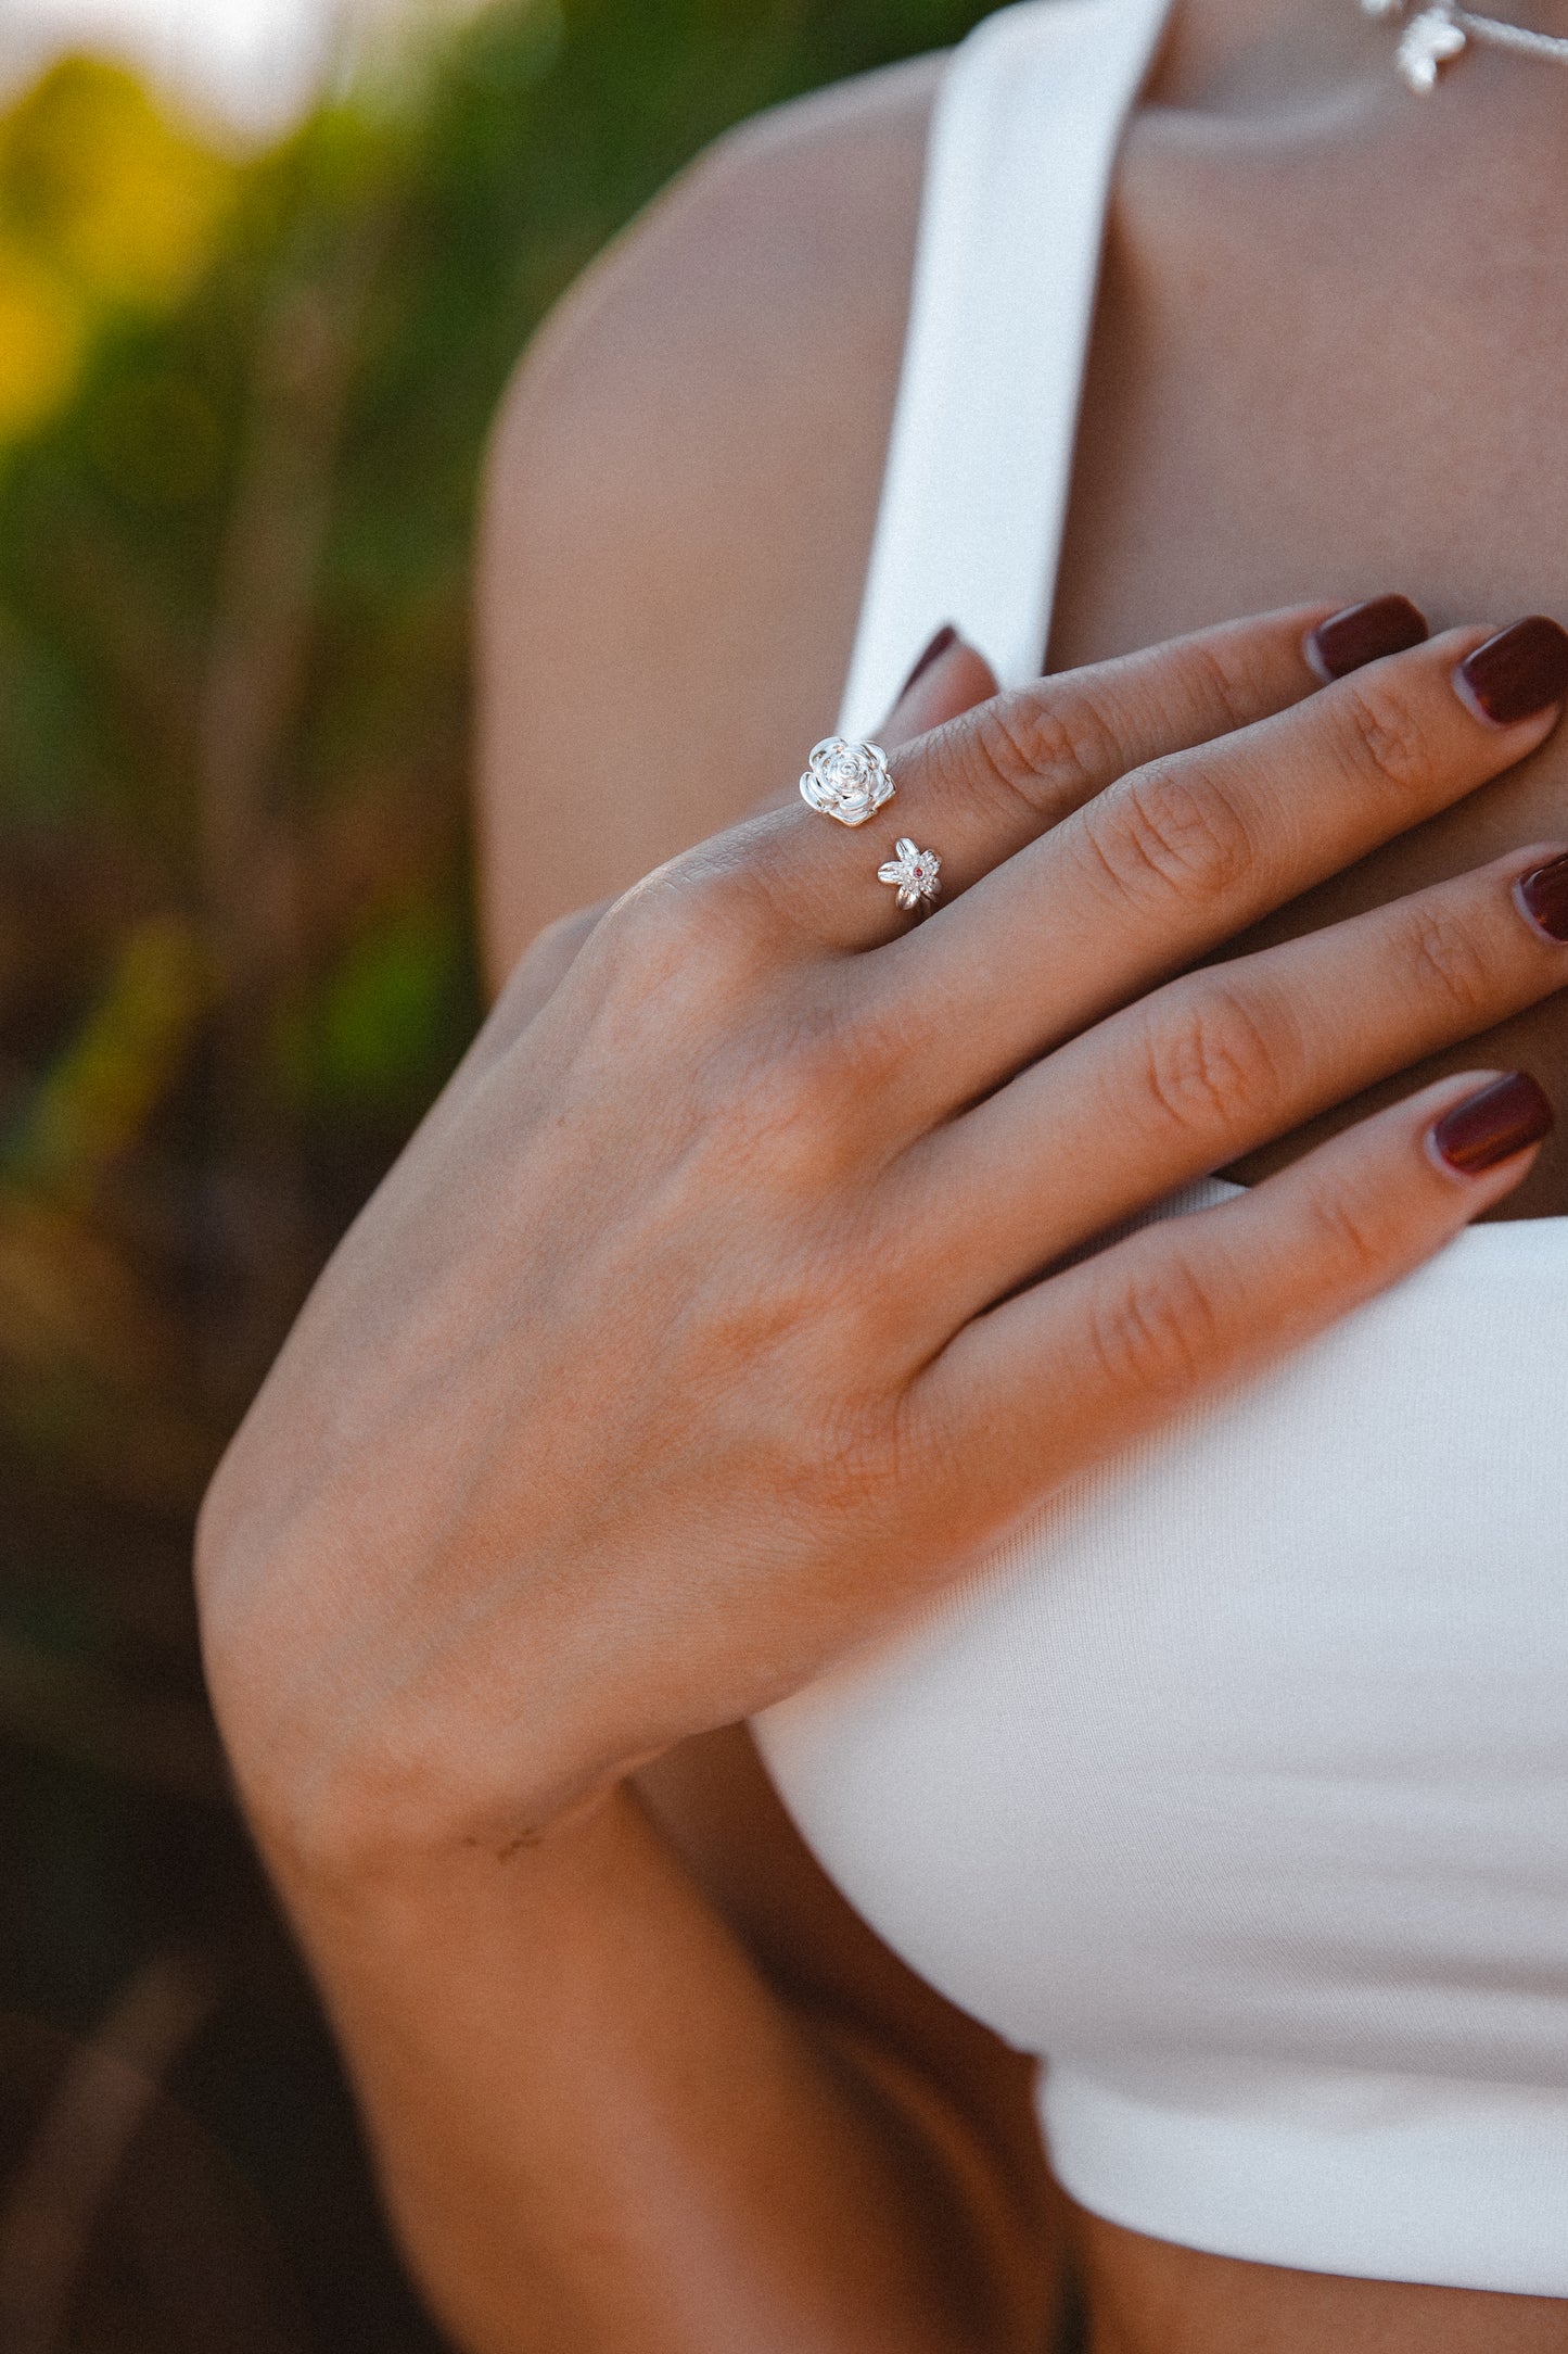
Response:
[[[512,379],[480,567],[498,972],[743,814],[832,718],[938,78],[917,59],[731,132]]]

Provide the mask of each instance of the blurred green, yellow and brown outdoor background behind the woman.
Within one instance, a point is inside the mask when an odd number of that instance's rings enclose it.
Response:
[[[971,0],[0,0],[0,2349],[416,2354],[228,1803],[190,1521],[480,1012],[531,327]]]

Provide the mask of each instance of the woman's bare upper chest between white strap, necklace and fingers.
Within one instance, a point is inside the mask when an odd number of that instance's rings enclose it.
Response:
[[[1568,78],[1563,78],[1568,80]],[[1338,134],[1133,122],[1084,384],[1051,666],[1309,596],[1413,596],[1434,626],[1568,614],[1568,89],[1514,120],[1394,108]],[[1474,108],[1472,108],[1474,97]],[[1519,113],[1523,104],[1523,111]],[[1526,843],[1568,840],[1568,734],[1302,899],[1312,930]],[[1552,1000],[1425,1064],[1568,1073]],[[1410,1076],[1239,1175],[1413,1083]],[[1505,1217],[1568,1210],[1547,1151]]]

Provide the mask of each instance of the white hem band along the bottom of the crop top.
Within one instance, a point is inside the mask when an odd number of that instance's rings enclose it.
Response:
[[[1215,2060],[1128,2095],[1051,2067],[1041,2116],[1079,2206],[1211,2255],[1568,2298],[1568,2093]]]

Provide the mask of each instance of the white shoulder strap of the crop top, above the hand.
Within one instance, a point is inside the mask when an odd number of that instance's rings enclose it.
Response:
[[[1025,0],[947,68],[844,734],[943,621],[1004,685],[1041,669],[1105,193],[1168,5]]]

